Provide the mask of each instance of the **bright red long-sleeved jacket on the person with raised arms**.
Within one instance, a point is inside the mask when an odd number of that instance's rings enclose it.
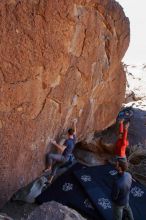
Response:
[[[126,148],[128,146],[127,134],[128,130],[124,129],[123,122],[120,122],[119,132],[123,133],[123,137],[119,138],[116,142],[115,155],[119,157],[126,156]]]

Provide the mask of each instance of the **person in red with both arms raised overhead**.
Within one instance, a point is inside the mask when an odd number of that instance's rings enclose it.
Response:
[[[124,126],[124,119],[120,121],[119,125],[119,138],[116,142],[115,146],[115,156],[116,160],[124,160],[126,161],[126,148],[129,144],[127,135],[128,135],[129,122],[127,122]]]

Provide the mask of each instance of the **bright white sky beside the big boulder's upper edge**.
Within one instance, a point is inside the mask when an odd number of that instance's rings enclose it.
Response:
[[[116,0],[130,20],[130,46],[123,61],[127,64],[146,64],[146,0]]]

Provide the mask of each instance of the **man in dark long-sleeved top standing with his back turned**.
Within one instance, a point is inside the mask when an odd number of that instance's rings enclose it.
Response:
[[[127,162],[117,162],[118,175],[112,187],[112,202],[114,220],[122,220],[123,211],[126,211],[129,220],[134,220],[129,206],[129,194],[132,184],[132,176],[126,172]]]

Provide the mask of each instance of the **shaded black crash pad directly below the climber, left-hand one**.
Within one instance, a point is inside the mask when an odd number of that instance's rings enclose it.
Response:
[[[67,172],[58,177],[50,187],[42,192],[36,198],[36,202],[42,204],[54,200],[78,210],[81,214],[88,215],[91,219],[102,220],[73,174],[73,171],[84,170],[85,168],[85,165],[79,163],[72,166]]]

